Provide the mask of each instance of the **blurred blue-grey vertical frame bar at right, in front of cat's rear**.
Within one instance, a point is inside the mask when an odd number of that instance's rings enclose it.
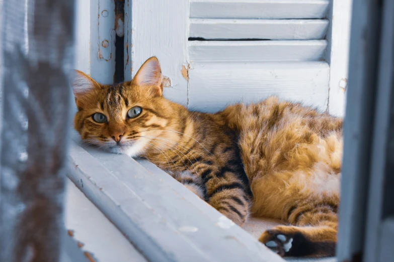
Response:
[[[339,261],[354,260],[355,255],[365,254],[368,248],[364,246],[364,233],[372,127],[377,102],[375,90],[381,10],[381,3],[376,1],[354,1],[352,6],[337,244]]]

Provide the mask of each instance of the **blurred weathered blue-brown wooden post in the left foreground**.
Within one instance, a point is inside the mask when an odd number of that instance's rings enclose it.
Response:
[[[73,0],[4,0],[0,261],[58,261]]]

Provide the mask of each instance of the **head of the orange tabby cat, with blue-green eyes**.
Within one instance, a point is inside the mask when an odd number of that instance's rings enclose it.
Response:
[[[74,128],[86,143],[135,157],[174,139],[174,132],[165,131],[175,128],[174,105],[162,96],[155,57],[145,61],[132,81],[121,84],[102,85],[75,71],[72,90],[78,108]]]

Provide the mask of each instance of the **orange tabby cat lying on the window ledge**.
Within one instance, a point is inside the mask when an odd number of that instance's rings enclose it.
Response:
[[[82,140],[146,158],[242,226],[251,213],[281,219],[259,240],[281,256],[333,256],[342,162],[341,118],[269,97],[209,114],[163,97],[160,63],[102,85],[76,71]]]

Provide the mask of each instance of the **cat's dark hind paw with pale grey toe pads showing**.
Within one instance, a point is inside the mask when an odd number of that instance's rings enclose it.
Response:
[[[286,234],[280,230],[270,229],[260,236],[259,241],[280,256],[285,256],[292,247],[293,235]]]

